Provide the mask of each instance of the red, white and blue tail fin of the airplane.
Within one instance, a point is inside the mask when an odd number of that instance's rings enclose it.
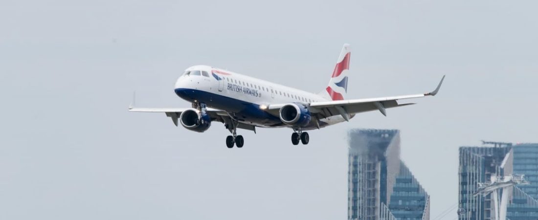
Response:
[[[344,100],[345,95],[348,93],[348,69],[349,59],[351,56],[351,48],[349,44],[344,44],[342,52],[338,56],[336,61],[335,70],[332,72],[329,86],[325,88],[320,94],[323,97],[330,98],[330,100]]]

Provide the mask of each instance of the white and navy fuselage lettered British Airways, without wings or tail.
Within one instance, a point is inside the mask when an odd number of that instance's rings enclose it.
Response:
[[[260,127],[285,127],[278,116],[266,111],[271,104],[325,102],[326,98],[307,91],[259,80],[210,66],[186,69],[175,83],[175,93],[192,103],[229,112],[240,123]],[[320,119],[318,124],[303,127],[316,129],[343,122],[341,116]]]

